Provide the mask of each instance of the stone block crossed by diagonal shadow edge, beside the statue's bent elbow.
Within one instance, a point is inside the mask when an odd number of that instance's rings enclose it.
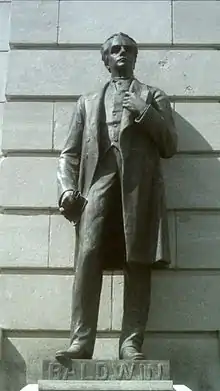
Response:
[[[176,103],[175,111],[179,151],[220,150],[219,103]]]

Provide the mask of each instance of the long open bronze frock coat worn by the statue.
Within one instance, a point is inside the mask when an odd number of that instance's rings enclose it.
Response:
[[[79,190],[85,198],[89,195],[99,159],[101,115],[108,84],[77,102],[58,164],[59,204],[67,190]],[[113,203],[114,212],[109,213],[113,219],[106,221],[102,243],[98,244],[104,268],[121,268],[124,260],[144,264],[170,261],[160,158],[170,158],[176,152],[172,110],[165,93],[157,88],[134,79],[130,91],[146,101],[147,109],[138,119],[127,109],[122,112],[122,194],[121,200]],[[98,194],[95,203],[99,203]],[[80,222],[76,226],[76,252],[79,240],[83,240]]]

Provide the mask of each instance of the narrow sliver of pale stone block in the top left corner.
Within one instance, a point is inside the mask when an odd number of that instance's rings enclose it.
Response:
[[[0,50],[9,49],[10,4],[0,2]]]

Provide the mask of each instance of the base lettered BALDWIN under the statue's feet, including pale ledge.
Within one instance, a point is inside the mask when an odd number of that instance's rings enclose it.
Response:
[[[39,391],[172,391],[168,361],[70,360],[43,363]]]

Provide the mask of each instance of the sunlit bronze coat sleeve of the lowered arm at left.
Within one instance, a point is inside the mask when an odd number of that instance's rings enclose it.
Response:
[[[83,97],[80,97],[76,105],[76,111],[70,122],[69,134],[64,149],[61,152],[58,162],[57,181],[59,205],[62,195],[66,191],[75,191],[78,188],[82,138],[85,119],[84,112],[84,99]]]

